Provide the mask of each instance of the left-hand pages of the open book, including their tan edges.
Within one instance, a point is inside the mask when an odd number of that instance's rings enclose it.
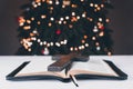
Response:
[[[48,71],[48,66],[53,63],[51,57],[45,57],[44,59],[33,59],[28,63],[21,71],[19,71],[16,77],[20,76],[58,76],[65,78],[64,70],[61,72]]]

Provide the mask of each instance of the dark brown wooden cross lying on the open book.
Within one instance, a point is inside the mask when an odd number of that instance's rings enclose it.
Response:
[[[89,57],[79,56],[78,53],[70,53],[64,56],[55,56],[53,59],[57,61],[48,67],[48,71],[61,71],[73,61],[88,61]]]

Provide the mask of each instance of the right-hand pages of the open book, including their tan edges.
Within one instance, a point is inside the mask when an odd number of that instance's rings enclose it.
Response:
[[[69,71],[71,75],[103,75],[103,76],[117,76],[110,66],[100,59],[90,59],[88,62],[73,62],[71,70]]]

